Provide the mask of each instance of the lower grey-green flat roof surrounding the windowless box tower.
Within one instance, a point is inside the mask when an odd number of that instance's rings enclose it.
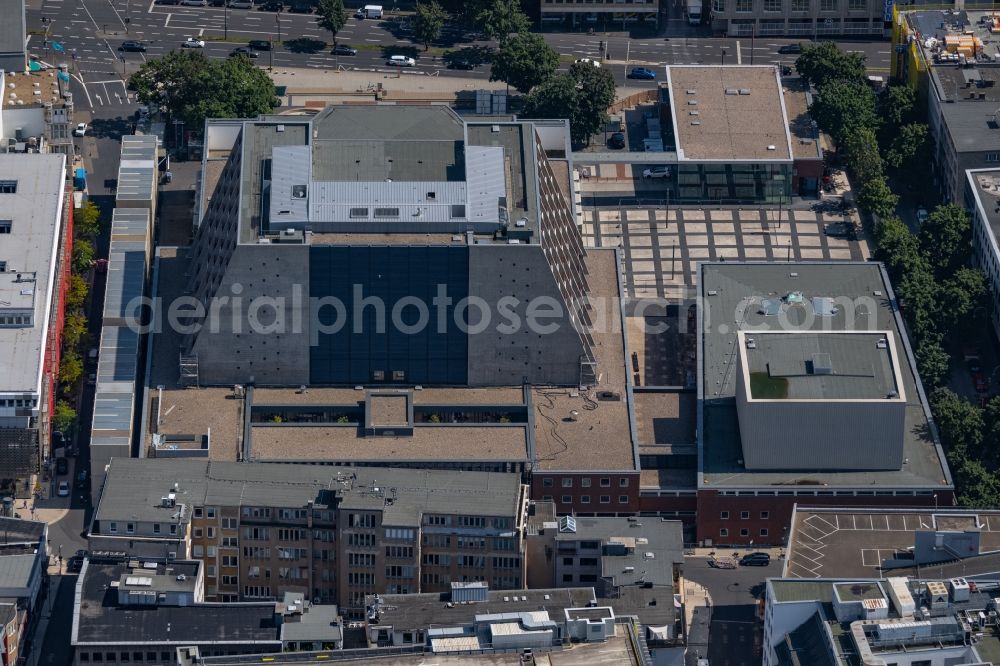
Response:
[[[881,264],[873,262],[703,263],[699,267],[699,487],[950,489],[951,475],[929,422],[909,343]],[[802,302],[778,317],[766,301],[791,293]],[[809,316],[815,297],[836,299],[831,316]],[[854,307],[848,307],[856,304]],[[762,329],[889,331],[906,399],[903,468],[893,471],[760,472],[744,467],[736,414],[737,333]]]

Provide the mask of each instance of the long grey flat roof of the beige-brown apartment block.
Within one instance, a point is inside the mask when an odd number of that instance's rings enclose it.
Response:
[[[383,511],[386,526],[418,524],[421,513],[514,516],[521,501],[516,474],[393,468],[331,468],[183,459],[115,458],[95,517],[99,521],[169,522],[160,506],[174,492],[192,506],[304,508],[310,501]]]

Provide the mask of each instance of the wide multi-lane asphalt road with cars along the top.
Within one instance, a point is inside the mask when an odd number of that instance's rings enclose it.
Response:
[[[47,21],[43,22],[43,18]],[[330,34],[316,25],[313,14],[271,13],[223,7],[158,5],[152,0],[35,0],[29,10],[31,36],[29,50],[42,60],[70,64],[84,82],[87,104],[101,107],[130,106],[123,80],[149,58],[180,48],[188,37],[206,41],[209,57],[223,58],[250,39],[282,42],[271,52],[262,52],[258,64],[269,67],[311,67],[366,71],[393,71],[385,65],[389,55],[409,55],[417,60],[416,70],[430,75],[461,75],[488,78],[489,65],[472,72],[447,68],[442,49],[470,49],[473,58],[484,55],[493,45],[474,41],[456,29],[446,29],[446,37],[430,52],[414,44],[403,20],[358,20],[350,18],[338,34],[340,43],[358,49],[356,56],[331,54]],[[46,34],[39,34],[46,33]],[[704,29],[683,21],[667,21],[658,35],[630,37],[626,33],[545,33],[546,41],[564,60],[599,58],[604,43],[615,79],[625,83],[625,73],[637,65],[658,67],[666,64],[791,64],[795,56],[779,55],[778,49],[797,40],[759,38],[715,38]],[[117,49],[127,39],[147,44],[146,53],[121,53]],[[62,52],[53,51],[58,42]],[[865,53],[873,71],[886,70],[889,45],[886,42],[842,42],[848,50]],[[483,58],[485,59],[485,58]],[[610,64],[610,63],[606,63]],[[568,65],[564,62],[563,67]],[[660,74],[662,77],[662,73]],[[631,85],[652,86],[653,81],[632,81]],[[98,115],[103,113],[98,112]]]

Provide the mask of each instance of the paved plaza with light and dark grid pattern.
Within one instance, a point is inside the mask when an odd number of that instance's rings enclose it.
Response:
[[[779,219],[780,217],[780,219]],[[862,261],[863,239],[834,238],[827,224],[840,213],[749,208],[586,209],[587,247],[621,247],[626,295],[683,298],[693,295],[699,261]]]

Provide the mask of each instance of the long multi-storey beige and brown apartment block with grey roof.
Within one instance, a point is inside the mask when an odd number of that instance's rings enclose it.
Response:
[[[526,494],[510,474],[115,459],[89,542],[199,560],[206,599],[361,616],[368,594],[522,587]]]

